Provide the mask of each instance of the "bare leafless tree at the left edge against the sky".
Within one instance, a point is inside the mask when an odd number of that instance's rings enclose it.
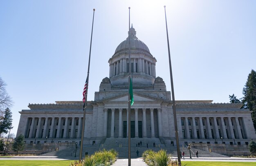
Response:
[[[6,92],[5,86],[6,84],[0,77],[0,119],[1,117],[3,117],[1,116],[2,115],[1,113],[3,112],[3,110],[7,107],[11,107],[12,105],[11,97]]]

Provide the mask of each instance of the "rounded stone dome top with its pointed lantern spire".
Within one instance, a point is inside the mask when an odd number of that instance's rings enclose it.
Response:
[[[133,27],[131,27],[130,32],[128,32],[128,38],[126,38],[126,40],[117,46],[115,53],[124,49],[129,49],[129,38],[131,49],[142,49],[146,52],[149,52],[148,46],[136,37],[136,31]]]

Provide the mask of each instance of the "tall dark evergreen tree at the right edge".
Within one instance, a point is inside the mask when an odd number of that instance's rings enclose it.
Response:
[[[252,121],[256,129],[256,72],[254,70],[248,75],[247,82],[243,88],[243,107],[252,111]]]

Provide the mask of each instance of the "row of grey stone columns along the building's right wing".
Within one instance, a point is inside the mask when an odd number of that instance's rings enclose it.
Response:
[[[233,123],[233,125],[235,126],[236,124],[236,128],[237,128],[237,131],[238,131],[238,137],[240,139],[243,138],[242,136],[242,132],[241,132],[241,128],[240,128],[240,123],[239,123],[239,120],[238,120],[238,117],[234,117],[235,118],[235,121],[236,123]],[[187,138],[189,138],[190,136],[190,132],[189,132],[189,123],[188,123],[188,119],[189,117],[185,117],[184,120],[185,120],[185,124],[186,124],[186,135],[187,135]],[[195,124],[195,117],[191,117],[192,119],[192,125],[193,125],[193,138],[197,139],[197,129],[196,129],[196,124]],[[230,135],[231,135],[231,138],[234,139],[235,138],[235,135],[234,135],[234,130],[233,130],[233,126],[232,126],[232,122],[231,122],[231,117],[227,117],[228,119],[228,125],[229,125],[229,132],[230,132]],[[199,117],[199,121],[200,121],[200,132],[201,132],[201,137],[204,138],[204,128],[203,128],[203,123],[202,123],[202,117]],[[209,139],[212,139],[212,133],[211,133],[211,125],[210,125],[210,118],[209,117],[206,117],[206,121],[207,121],[207,131],[208,131],[208,135],[209,135]],[[216,139],[220,139],[220,137],[222,137],[223,139],[227,139],[227,132],[226,132],[226,127],[225,127],[225,122],[224,122],[224,118],[223,117],[220,117],[220,121],[221,121],[221,126],[220,127],[220,130],[222,130],[222,135],[219,134],[219,128],[218,128],[218,124],[217,124],[217,119],[216,117],[213,117],[213,124],[214,125],[214,130],[215,130],[215,133],[216,133]],[[226,123],[227,124],[227,123]]]

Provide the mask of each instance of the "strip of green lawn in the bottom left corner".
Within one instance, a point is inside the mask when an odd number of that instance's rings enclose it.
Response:
[[[0,160],[0,166],[69,166],[74,160]]]

